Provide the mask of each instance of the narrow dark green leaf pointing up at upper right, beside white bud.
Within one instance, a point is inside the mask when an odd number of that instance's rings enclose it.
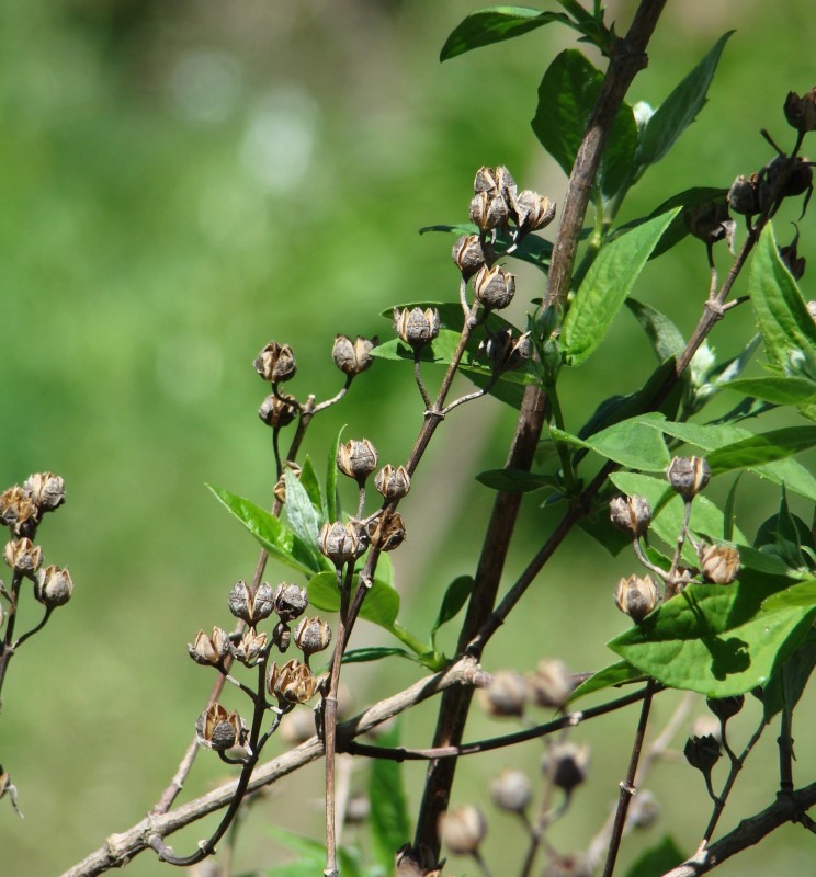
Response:
[[[696,118],[698,113],[705,104],[705,95],[714,78],[714,71],[717,69],[719,56],[733,33],[734,31],[728,31],[717,39],[709,54],[669,94],[646,123],[637,149],[637,162],[642,168],[660,161],[678,137]]]

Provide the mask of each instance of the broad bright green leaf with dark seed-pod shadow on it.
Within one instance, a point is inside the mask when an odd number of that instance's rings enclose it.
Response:
[[[778,590],[779,580],[749,570],[730,585],[690,584],[609,646],[669,687],[744,694],[768,682],[816,615],[816,606],[762,606]]]

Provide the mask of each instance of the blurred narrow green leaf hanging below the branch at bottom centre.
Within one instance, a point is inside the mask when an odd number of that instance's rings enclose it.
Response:
[[[379,738],[384,747],[399,745],[399,727],[387,730]],[[388,759],[372,759],[369,774],[371,800],[371,836],[374,854],[385,874],[394,870],[394,856],[410,841],[410,821],[403,784],[403,765]]]

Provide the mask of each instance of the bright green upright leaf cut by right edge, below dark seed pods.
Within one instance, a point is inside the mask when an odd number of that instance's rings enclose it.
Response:
[[[816,326],[770,224],[753,253],[748,291],[769,362],[785,374],[816,379]]]

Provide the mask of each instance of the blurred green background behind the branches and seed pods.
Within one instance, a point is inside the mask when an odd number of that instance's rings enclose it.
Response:
[[[76,583],[69,606],[15,658],[3,692],[0,753],[25,813],[0,812],[4,874],[60,873],[138,821],[175,770],[212,683],[185,643],[200,628],[229,625],[226,594],[251,577],[257,554],[204,482],[262,505],[271,497],[270,433],[256,417],[264,396],[251,366],[258,350],[272,338],[293,344],[292,390],[325,398],[340,386],[329,356],[336,333],[387,337],[385,308],[455,298],[452,239],[417,229],[466,219],[477,167],[505,163],[522,186],[563,200],[563,175],[529,119],[543,70],[571,36],[545,29],[440,66],[445,36],[478,8],[465,0],[0,7],[0,481],[46,469],[65,477],[68,503],[47,520],[42,540],[47,562],[68,566]],[[612,4],[619,32],[633,9]],[[728,185],[758,169],[770,158],[761,126],[791,139],[782,100],[816,79],[808,0],[669,3],[631,99],[659,103],[732,27],[709,107],[638,184],[623,219],[691,185]],[[795,213],[782,217],[782,240]],[[816,258],[812,225],[808,216],[800,251]],[[724,266],[725,253],[718,258]],[[807,295],[807,277],[803,284]],[[685,241],[648,267],[635,294],[688,332],[706,285],[703,248]],[[520,271],[519,288],[517,323],[542,294],[542,275]],[[750,324],[746,308],[729,316],[713,338],[717,353],[736,353]],[[598,356],[566,376],[568,425],[577,430],[602,398],[634,389],[650,356],[622,317]],[[328,443],[349,424],[348,436],[367,436],[383,460],[398,464],[420,422],[409,374],[381,363],[315,422],[306,449],[322,471]],[[492,496],[473,476],[502,464],[512,422],[492,400],[461,409],[418,472],[404,506],[409,542],[395,557],[400,617],[413,630],[428,628],[447,581],[474,568]],[[778,501],[774,490],[751,490],[743,494],[748,532]],[[552,520],[535,497],[525,509],[509,576]],[[611,561],[575,535],[529,594],[526,624],[508,624],[485,665],[526,671],[555,656],[574,670],[608,663],[603,643],[625,627],[612,589],[634,570],[633,558]],[[274,568],[269,576],[292,578]],[[22,629],[37,617],[27,606]],[[355,636],[356,645],[381,641],[366,625]],[[362,706],[416,676],[394,660],[353,668],[347,681]],[[812,695],[803,707],[801,727],[813,720]],[[743,732],[757,715],[749,710]],[[670,711],[671,695],[659,698],[658,727]],[[583,848],[614,800],[632,718],[576,733],[594,745],[593,772],[580,807],[554,833],[563,852]],[[433,706],[417,710],[406,740],[426,745],[433,720]],[[502,728],[475,715],[467,736]],[[724,828],[770,800],[762,777],[773,775],[773,736],[740,781]],[[469,760],[455,801],[484,802],[492,773],[505,764],[535,772],[540,753],[528,744]],[[812,778],[816,755],[805,741],[797,754],[798,775]],[[363,785],[364,765],[353,772]],[[416,805],[422,768],[406,775]],[[203,755],[183,797],[224,776]],[[235,874],[283,861],[269,823],[319,836],[320,784],[313,766],[270,790],[247,820]],[[649,787],[664,805],[661,823],[633,839],[624,858],[667,828],[691,852],[707,812],[702,782],[667,764]],[[507,863],[522,848],[506,819],[491,818],[495,874],[511,873]],[[204,834],[197,825],[171,842],[186,852]],[[801,829],[783,829],[719,873],[813,873],[805,842]],[[473,866],[454,861],[453,870]],[[128,873],[170,869],[144,854]]]

